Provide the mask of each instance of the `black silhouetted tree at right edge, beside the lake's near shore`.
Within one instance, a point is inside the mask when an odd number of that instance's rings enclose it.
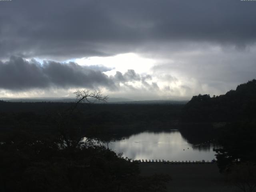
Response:
[[[220,171],[238,162],[256,162],[255,124],[237,122],[227,124],[219,138],[221,148],[215,149]]]

